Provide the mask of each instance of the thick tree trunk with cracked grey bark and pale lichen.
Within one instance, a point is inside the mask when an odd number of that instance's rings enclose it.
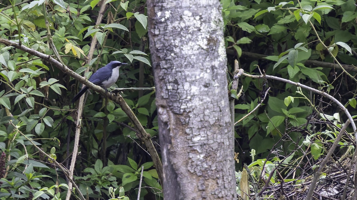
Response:
[[[235,199],[217,0],[148,0],[165,199]]]

